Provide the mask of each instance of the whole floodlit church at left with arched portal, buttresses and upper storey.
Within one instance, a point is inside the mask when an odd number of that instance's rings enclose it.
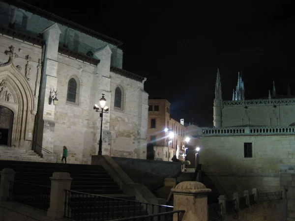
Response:
[[[0,145],[88,164],[105,94],[103,154],[146,158],[146,78],[122,69],[121,42],[19,1],[0,2],[0,30]]]

